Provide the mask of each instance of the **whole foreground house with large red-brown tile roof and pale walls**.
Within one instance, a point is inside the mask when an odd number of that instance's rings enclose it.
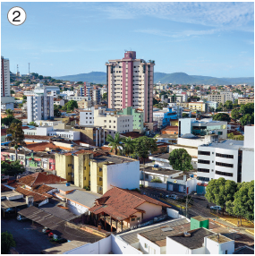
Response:
[[[105,229],[109,225],[111,231],[115,228],[119,232],[164,215],[166,208],[170,206],[140,192],[114,187],[97,199],[89,211],[96,217],[96,225],[101,219]]]

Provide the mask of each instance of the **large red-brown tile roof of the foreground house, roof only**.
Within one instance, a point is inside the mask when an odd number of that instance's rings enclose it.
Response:
[[[113,218],[123,220],[125,218],[130,218],[134,213],[140,211],[140,209],[136,208],[144,202],[149,202],[167,208],[170,207],[161,201],[157,201],[147,195],[140,194],[140,192],[114,187],[107,191],[99,200],[96,200],[97,205],[90,208],[89,211],[94,214],[105,212]]]

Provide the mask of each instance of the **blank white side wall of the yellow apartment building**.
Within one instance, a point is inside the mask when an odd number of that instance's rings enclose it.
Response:
[[[104,193],[110,190],[112,186],[117,186],[123,189],[135,189],[140,187],[139,161],[132,161],[118,165],[109,165],[106,167],[107,187],[104,187]],[[105,166],[103,166],[103,172],[106,172],[106,169]],[[104,173],[103,177],[105,177]]]

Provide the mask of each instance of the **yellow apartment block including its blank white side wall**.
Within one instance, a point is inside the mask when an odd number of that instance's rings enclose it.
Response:
[[[86,150],[55,154],[56,175],[91,192],[105,193],[113,186],[139,188],[140,162],[132,158],[108,155],[105,151]]]

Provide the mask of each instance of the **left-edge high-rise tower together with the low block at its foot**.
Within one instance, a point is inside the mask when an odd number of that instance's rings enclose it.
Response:
[[[1,56],[1,109],[14,108],[14,98],[10,89],[10,64]]]

